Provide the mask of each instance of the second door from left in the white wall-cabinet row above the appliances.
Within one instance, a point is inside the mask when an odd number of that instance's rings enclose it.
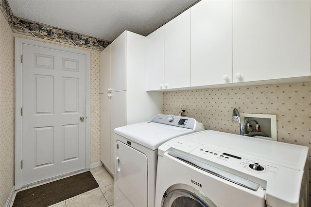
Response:
[[[164,25],[164,89],[190,86],[190,9]]]

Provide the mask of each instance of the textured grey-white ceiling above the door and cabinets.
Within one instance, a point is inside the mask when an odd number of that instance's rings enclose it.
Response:
[[[198,0],[8,0],[13,15],[72,32],[116,39],[149,35]]]

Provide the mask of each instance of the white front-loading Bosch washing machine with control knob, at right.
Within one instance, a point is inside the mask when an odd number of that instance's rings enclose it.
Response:
[[[158,148],[156,207],[308,207],[308,147],[223,132]]]

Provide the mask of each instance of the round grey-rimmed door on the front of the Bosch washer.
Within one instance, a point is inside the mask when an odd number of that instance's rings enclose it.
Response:
[[[186,184],[175,184],[168,188],[162,198],[161,207],[217,207],[204,193]]]

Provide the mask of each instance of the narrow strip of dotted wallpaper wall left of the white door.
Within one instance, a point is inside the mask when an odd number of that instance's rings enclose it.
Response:
[[[14,42],[7,19],[0,12],[0,206],[14,186]]]

